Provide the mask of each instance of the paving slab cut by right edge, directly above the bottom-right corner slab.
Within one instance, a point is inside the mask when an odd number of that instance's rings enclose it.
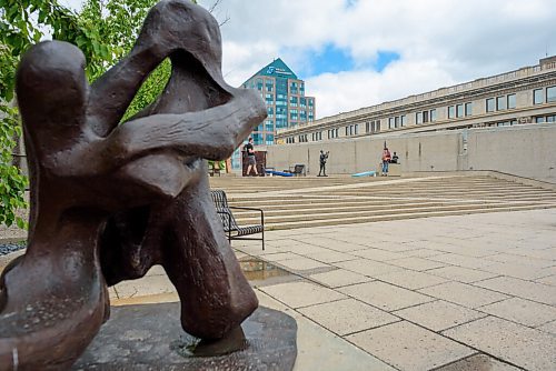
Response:
[[[494,304],[478,308],[481,312],[529,327],[556,320],[556,308],[520,298],[512,298]]]

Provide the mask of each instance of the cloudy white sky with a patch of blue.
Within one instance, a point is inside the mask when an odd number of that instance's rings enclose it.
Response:
[[[556,56],[556,0],[220,0],[212,14],[228,83],[281,58],[317,118]]]

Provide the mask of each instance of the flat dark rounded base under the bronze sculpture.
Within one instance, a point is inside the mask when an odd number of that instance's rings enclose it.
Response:
[[[210,344],[199,343],[198,338],[183,332],[179,313],[179,302],[112,307],[110,320],[72,370],[294,368],[297,324],[282,312],[259,307],[241,324],[245,338],[238,329],[228,339]]]

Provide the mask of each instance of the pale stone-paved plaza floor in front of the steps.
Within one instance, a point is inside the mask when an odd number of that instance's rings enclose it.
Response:
[[[556,210],[319,227],[234,241],[298,321],[296,370],[556,370]],[[4,258],[6,260],[6,258]],[[0,261],[0,270],[2,269]],[[115,304],[177,300],[162,269]]]

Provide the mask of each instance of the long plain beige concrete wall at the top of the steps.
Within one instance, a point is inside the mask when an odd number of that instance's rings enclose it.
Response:
[[[328,173],[378,170],[385,141],[391,152],[397,152],[403,172],[496,170],[556,181],[554,123],[270,146],[267,166],[284,170],[305,163],[308,173],[315,176],[322,149],[330,151]]]

